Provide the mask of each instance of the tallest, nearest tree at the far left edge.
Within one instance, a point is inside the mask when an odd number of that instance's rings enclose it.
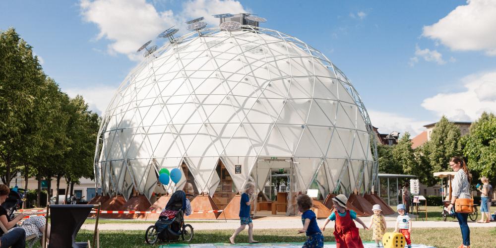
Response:
[[[32,47],[13,28],[0,31],[0,172],[9,184],[38,150],[32,116],[45,74]]]

